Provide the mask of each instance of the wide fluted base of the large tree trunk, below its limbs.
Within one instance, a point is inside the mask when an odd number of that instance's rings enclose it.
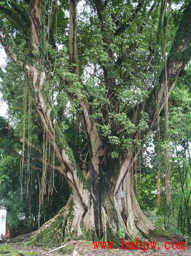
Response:
[[[92,184],[95,198],[90,196],[86,210],[81,202],[76,201],[74,195],[73,198],[71,196],[59,214],[45,223],[30,242],[47,243],[50,240],[47,234],[54,234],[57,237],[55,241],[60,243],[72,237],[117,241],[119,244],[117,232],[120,228],[124,229],[126,239],[146,239],[155,227],[143,214],[133,192],[132,156],[133,151],[129,151],[121,164],[118,178],[115,182],[111,180],[109,189],[102,169],[100,168],[99,176],[95,172]],[[55,242],[54,239],[51,241]]]

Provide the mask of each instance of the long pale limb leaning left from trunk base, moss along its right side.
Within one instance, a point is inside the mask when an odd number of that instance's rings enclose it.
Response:
[[[40,51],[40,34],[42,29],[41,24],[41,1],[34,0],[34,7],[31,12],[32,22],[32,52]],[[34,54],[36,55],[36,54]],[[31,77],[31,82],[35,92],[35,107],[40,117],[41,126],[46,132],[49,143],[54,148],[54,152],[58,161],[61,163],[63,174],[67,179],[73,191],[73,198],[77,208],[75,209],[78,215],[78,222],[81,221],[82,216],[89,208],[90,192],[88,190],[88,183],[85,181],[82,172],[78,169],[78,165],[71,153],[63,134],[57,123],[53,124],[51,120],[51,109],[48,109],[42,87],[46,80],[45,71],[40,71],[36,66],[41,65],[38,57],[34,58],[34,65],[28,68],[28,73]],[[43,65],[42,65],[43,68]],[[86,187],[84,186],[86,184]],[[74,223],[78,235],[82,235],[79,223]]]

